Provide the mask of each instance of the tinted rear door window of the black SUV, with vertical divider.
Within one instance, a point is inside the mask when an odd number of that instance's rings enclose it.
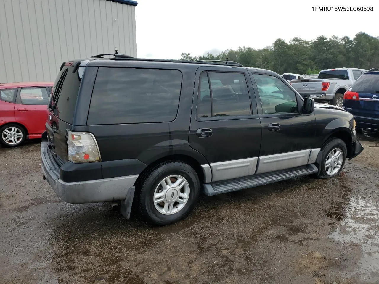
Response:
[[[198,117],[251,115],[249,92],[242,73],[208,72],[207,75],[202,72],[199,94]]]

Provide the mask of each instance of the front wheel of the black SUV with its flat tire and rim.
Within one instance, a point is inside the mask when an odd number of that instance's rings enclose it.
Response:
[[[317,178],[331,178],[339,175],[346,161],[347,148],[339,138],[332,138],[321,148],[323,156]]]

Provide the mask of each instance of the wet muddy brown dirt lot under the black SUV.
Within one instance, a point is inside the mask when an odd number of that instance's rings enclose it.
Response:
[[[67,204],[39,141],[0,148],[0,283],[379,283],[379,136],[337,178],[216,197],[156,228]]]

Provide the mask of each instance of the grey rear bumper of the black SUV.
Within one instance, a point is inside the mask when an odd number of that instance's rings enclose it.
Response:
[[[64,182],[59,177],[60,166],[47,147],[47,142],[41,143],[41,168],[44,179],[54,192],[67,203],[92,203],[114,200],[125,200],[129,190],[138,175],[120,176],[115,178],[93,179],[89,181]]]

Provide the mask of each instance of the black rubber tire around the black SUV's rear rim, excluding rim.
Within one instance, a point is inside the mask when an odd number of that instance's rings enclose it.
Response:
[[[180,175],[186,179],[189,186],[189,197],[180,211],[165,215],[155,208],[154,192],[160,182],[170,175]],[[160,226],[175,223],[187,217],[195,207],[200,193],[200,181],[196,171],[182,161],[168,161],[157,165],[147,175],[143,176],[138,187],[139,211],[145,220]]]

